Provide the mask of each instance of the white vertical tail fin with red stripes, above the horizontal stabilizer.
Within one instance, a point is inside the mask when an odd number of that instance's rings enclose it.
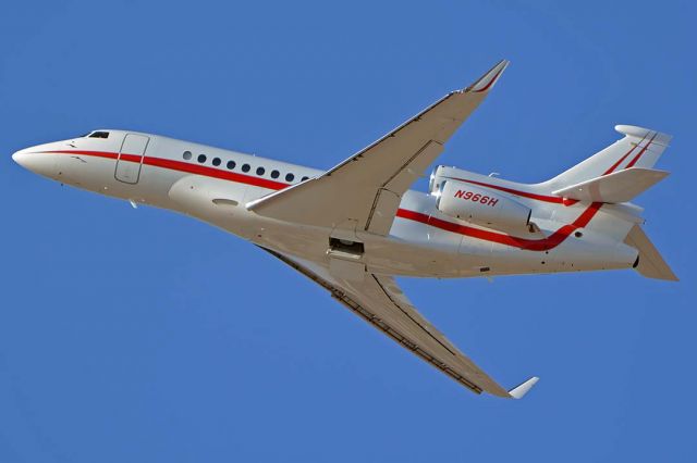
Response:
[[[549,180],[552,189],[564,189],[632,167],[650,170],[672,138],[670,135],[633,125],[616,125],[614,129],[623,134],[624,138]]]

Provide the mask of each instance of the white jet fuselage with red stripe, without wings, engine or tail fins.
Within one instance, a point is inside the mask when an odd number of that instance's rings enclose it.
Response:
[[[40,145],[13,158],[60,183],[192,215],[265,248],[315,261],[326,255],[331,229],[267,218],[245,208],[322,171],[162,136],[103,132],[107,138]],[[622,242],[640,222],[632,207],[563,203],[543,184],[443,170],[530,208],[535,227],[509,234],[477,226],[441,213],[435,195],[409,190],[388,236],[355,232],[370,272],[469,277],[628,268],[637,259],[637,251]]]

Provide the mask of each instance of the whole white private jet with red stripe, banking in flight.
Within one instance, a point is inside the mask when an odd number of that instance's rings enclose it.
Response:
[[[439,165],[409,190],[494,87],[502,60],[329,171],[132,130],[97,129],[15,152],[77,188],[187,214],[246,239],[327,289],[399,345],[476,393],[519,399],[409,302],[395,277],[464,278],[634,268],[677,280],[631,200],[665,178],[671,136],[623,137],[579,164],[522,184]]]

